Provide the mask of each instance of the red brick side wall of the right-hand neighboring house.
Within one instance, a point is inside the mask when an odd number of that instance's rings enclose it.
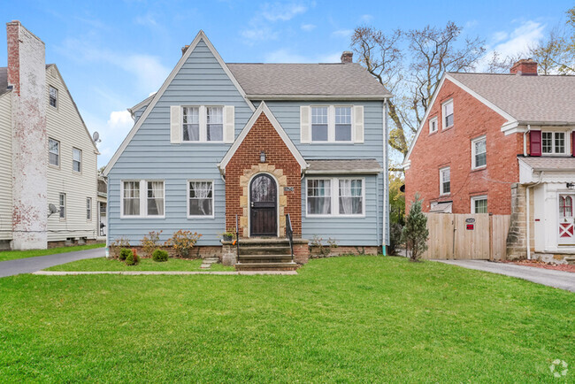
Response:
[[[441,104],[454,100],[454,125],[442,129]],[[446,80],[431,107],[429,118],[439,117],[439,130],[429,134],[429,119],[419,134],[405,173],[406,202],[416,192],[424,211],[433,201],[453,201],[454,213],[470,213],[472,196],[487,195],[487,210],[510,214],[510,183],[519,179],[517,154],[523,154],[523,134],[501,132],[506,119],[475,97]],[[487,135],[487,167],[472,171],[472,139]],[[528,139],[528,137],[527,137]],[[527,145],[529,150],[529,145]],[[451,169],[451,193],[440,197],[439,169]]]

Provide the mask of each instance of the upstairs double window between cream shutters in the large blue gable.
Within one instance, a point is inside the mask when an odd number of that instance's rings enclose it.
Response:
[[[224,107],[182,107],[182,142],[223,142]]]

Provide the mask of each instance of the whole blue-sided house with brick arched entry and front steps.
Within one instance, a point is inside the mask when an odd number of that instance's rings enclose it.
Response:
[[[244,270],[293,269],[329,239],[385,252],[391,94],[351,52],[225,63],[200,31],[182,53],[104,171],[109,244],[189,230],[194,252]]]

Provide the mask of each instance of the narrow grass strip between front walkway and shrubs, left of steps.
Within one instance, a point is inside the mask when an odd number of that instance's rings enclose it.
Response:
[[[114,258],[98,257],[73,261],[63,265],[52,266],[46,271],[203,271],[200,269],[202,260],[183,260],[169,258],[168,261],[157,263],[151,258],[141,258],[138,265],[126,263]],[[209,271],[234,271],[233,266],[213,264]]]

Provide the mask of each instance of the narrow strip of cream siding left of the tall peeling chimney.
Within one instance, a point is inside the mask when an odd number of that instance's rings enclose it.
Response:
[[[12,239],[12,93],[0,96],[0,240]]]

